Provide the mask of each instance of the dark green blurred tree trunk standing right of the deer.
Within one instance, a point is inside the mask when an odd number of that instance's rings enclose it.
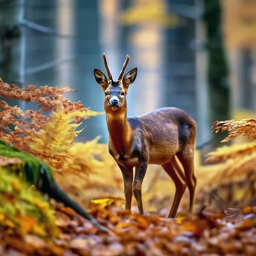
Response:
[[[225,56],[222,33],[222,13],[220,0],[204,0],[204,22],[207,33],[208,51],[209,113],[211,124],[217,120],[230,119],[230,93],[228,65]],[[210,125],[211,125],[210,124]],[[227,134],[214,134],[213,147],[220,147],[220,141]]]

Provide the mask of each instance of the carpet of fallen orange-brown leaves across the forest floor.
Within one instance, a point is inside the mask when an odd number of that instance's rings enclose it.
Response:
[[[53,202],[52,204],[55,205]],[[88,212],[112,230],[105,234],[69,208],[55,205],[56,239],[1,232],[1,255],[255,255],[256,207],[204,211],[176,219],[122,210],[122,201],[91,202]]]

